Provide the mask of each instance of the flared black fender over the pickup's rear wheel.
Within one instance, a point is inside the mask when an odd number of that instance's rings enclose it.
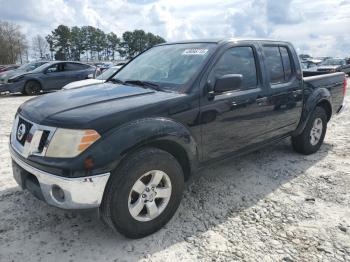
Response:
[[[324,101],[331,105],[331,93],[327,88],[305,88],[304,97],[306,99],[304,100],[300,122],[297,129],[294,131],[293,136],[299,135],[303,132],[312,112],[319,103]]]

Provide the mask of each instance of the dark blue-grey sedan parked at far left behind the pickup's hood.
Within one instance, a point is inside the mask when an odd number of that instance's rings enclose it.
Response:
[[[96,67],[78,62],[54,61],[46,63],[29,73],[23,73],[8,79],[7,84],[0,85],[0,92],[35,95],[41,91],[61,89],[66,84],[93,78]]]

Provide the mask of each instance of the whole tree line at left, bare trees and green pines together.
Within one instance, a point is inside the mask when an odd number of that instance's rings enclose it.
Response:
[[[27,42],[21,28],[0,20],[0,64],[30,59],[107,61],[129,59],[165,40],[144,30],[126,31],[121,36],[93,26],[59,25],[49,35],[36,35]]]

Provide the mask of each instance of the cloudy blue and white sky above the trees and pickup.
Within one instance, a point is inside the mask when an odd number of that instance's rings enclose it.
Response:
[[[20,25],[28,39],[60,24],[92,25],[167,41],[277,39],[299,53],[350,56],[350,0],[0,0],[0,20]]]

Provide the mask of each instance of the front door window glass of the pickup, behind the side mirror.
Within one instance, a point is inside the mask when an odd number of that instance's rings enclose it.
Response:
[[[228,74],[241,74],[242,90],[256,88],[258,83],[254,51],[251,47],[233,47],[225,51],[209,74],[212,85]]]

